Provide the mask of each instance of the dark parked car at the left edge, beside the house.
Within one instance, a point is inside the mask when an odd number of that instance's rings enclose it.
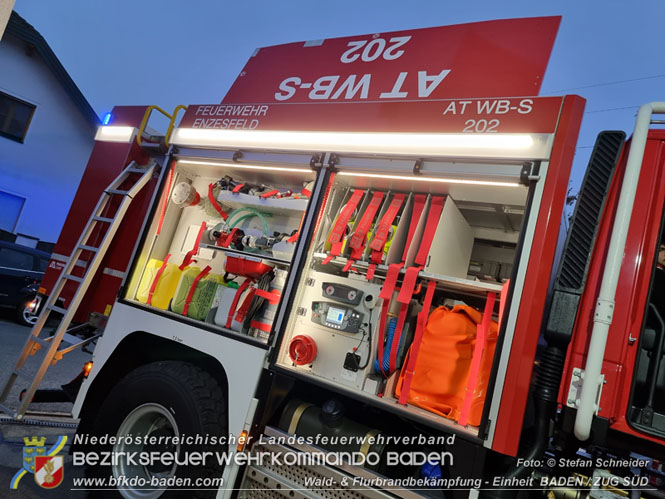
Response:
[[[37,322],[37,290],[50,255],[20,244],[0,241],[0,307],[10,307],[25,326]]]

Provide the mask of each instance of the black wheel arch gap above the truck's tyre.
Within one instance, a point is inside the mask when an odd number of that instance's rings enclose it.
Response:
[[[226,370],[219,360],[212,355],[173,340],[145,331],[135,331],[118,343],[100,372],[92,380],[79,414],[81,422],[77,434],[89,433],[92,421],[104,398],[120,379],[139,366],[164,360],[188,362],[206,371],[217,381],[224,393],[225,401],[228,403],[228,378]],[[225,424],[228,427],[228,414]]]

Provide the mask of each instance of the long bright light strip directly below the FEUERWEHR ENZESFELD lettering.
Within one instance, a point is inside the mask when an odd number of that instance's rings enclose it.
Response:
[[[297,132],[179,128],[171,142],[198,147],[312,150],[425,156],[546,158],[549,135]]]

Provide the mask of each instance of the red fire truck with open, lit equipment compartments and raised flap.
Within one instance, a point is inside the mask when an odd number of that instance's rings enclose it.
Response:
[[[662,497],[665,103],[628,141],[598,135],[562,232],[584,99],[536,96],[559,21],[262,48],[163,134],[158,108],[116,107],[3,410],[45,400],[82,331],[77,449],[247,459],[91,476],[221,477],[218,497]],[[120,438],[137,435],[164,438]]]

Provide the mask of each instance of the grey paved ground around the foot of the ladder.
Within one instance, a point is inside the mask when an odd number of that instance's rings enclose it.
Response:
[[[19,326],[12,321],[11,314],[0,312],[0,383],[4,386],[7,376],[13,369],[18,354],[23,348],[25,339],[30,329],[27,327]],[[85,362],[90,359],[90,355],[74,351],[66,355],[63,360],[52,366],[44,381],[42,382],[43,388],[59,388],[61,384],[71,381],[81,370]],[[40,354],[30,358],[26,369],[29,372],[36,372],[41,360]],[[27,380],[20,380],[17,386],[12,390],[8,402],[11,405],[17,403],[17,397],[20,391],[27,387]],[[71,411],[72,404],[34,404],[34,409],[39,411],[57,411],[69,412]],[[38,426],[26,423],[8,422],[4,415],[0,416],[0,497],[2,498],[42,498],[48,497],[53,499],[60,498],[76,498],[84,497],[81,492],[74,492],[69,490],[71,487],[71,478],[73,476],[82,476],[83,472],[80,468],[74,468],[71,465],[71,458],[69,457],[67,445],[60,453],[65,458],[65,474],[64,481],[57,489],[44,490],[40,488],[34,481],[32,474],[26,474],[19,482],[17,490],[10,490],[9,484],[14,474],[22,466],[22,451],[23,451],[23,438],[24,437],[45,437],[46,446],[49,447],[56,442],[58,437],[66,435],[71,438],[75,432],[75,425],[65,424],[51,420],[49,426]],[[26,417],[26,420],[28,417]],[[33,416],[32,419],[35,419]],[[39,417],[40,420],[48,418]]]

